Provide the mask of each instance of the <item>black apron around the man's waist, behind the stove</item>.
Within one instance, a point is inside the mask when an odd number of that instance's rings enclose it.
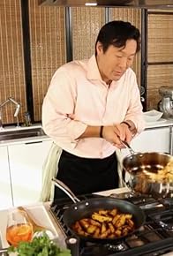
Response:
[[[63,150],[56,178],[76,195],[115,189],[118,187],[117,155],[114,153],[103,159],[84,158]],[[66,197],[55,186],[54,199]]]

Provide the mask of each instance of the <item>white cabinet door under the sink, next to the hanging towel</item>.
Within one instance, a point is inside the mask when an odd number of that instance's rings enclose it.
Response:
[[[51,140],[9,146],[14,206],[37,202],[41,193],[42,165]]]

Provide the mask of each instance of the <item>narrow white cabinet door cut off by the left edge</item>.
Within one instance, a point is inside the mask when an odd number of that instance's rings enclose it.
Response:
[[[0,147],[0,209],[12,207],[8,148]]]

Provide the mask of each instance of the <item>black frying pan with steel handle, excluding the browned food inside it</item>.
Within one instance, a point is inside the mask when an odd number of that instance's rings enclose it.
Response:
[[[85,237],[85,236],[80,236],[77,232],[72,230],[71,228],[72,224],[79,221],[80,219],[91,216],[94,213],[94,211],[99,211],[100,209],[117,208],[121,213],[132,214],[133,222],[135,224],[135,230],[133,230],[132,232],[139,230],[139,228],[145,222],[144,212],[139,207],[133,205],[132,203],[126,200],[119,200],[119,199],[114,199],[110,197],[100,197],[100,198],[80,201],[73,194],[73,192],[71,192],[70,188],[66,186],[62,181],[56,178],[52,178],[52,181],[58,188],[63,190],[74,202],[74,204],[72,204],[71,207],[67,208],[64,211],[63,220],[65,225],[71,230],[71,233],[76,237],[79,237],[83,240],[94,242],[94,243],[95,242],[109,243],[109,242],[112,242],[112,240],[118,240],[122,238],[122,237],[114,237],[114,238]],[[132,234],[132,233],[129,233],[129,234]]]

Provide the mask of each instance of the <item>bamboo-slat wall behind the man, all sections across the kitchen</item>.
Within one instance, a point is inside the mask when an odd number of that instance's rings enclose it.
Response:
[[[34,122],[41,121],[41,104],[49,81],[69,59],[69,49],[73,59],[94,54],[96,36],[108,20],[128,20],[141,29],[139,9],[72,7],[71,26],[64,7],[39,6],[37,0],[28,0],[28,4],[26,0],[2,0],[0,10],[0,103],[9,96],[19,102],[20,122],[24,121],[26,110],[33,113]],[[151,63],[146,63],[147,108],[152,109],[160,99],[158,88],[173,85],[173,12],[151,13],[147,17],[147,62]],[[140,54],[133,69],[140,87]],[[3,108],[4,124],[16,122],[13,113],[11,103]]]

